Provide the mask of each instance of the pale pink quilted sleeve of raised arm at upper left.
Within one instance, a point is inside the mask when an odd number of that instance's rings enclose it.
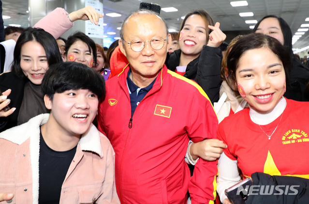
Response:
[[[56,8],[33,27],[42,28],[57,39],[74,25],[67,15],[68,13],[63,8]]]

